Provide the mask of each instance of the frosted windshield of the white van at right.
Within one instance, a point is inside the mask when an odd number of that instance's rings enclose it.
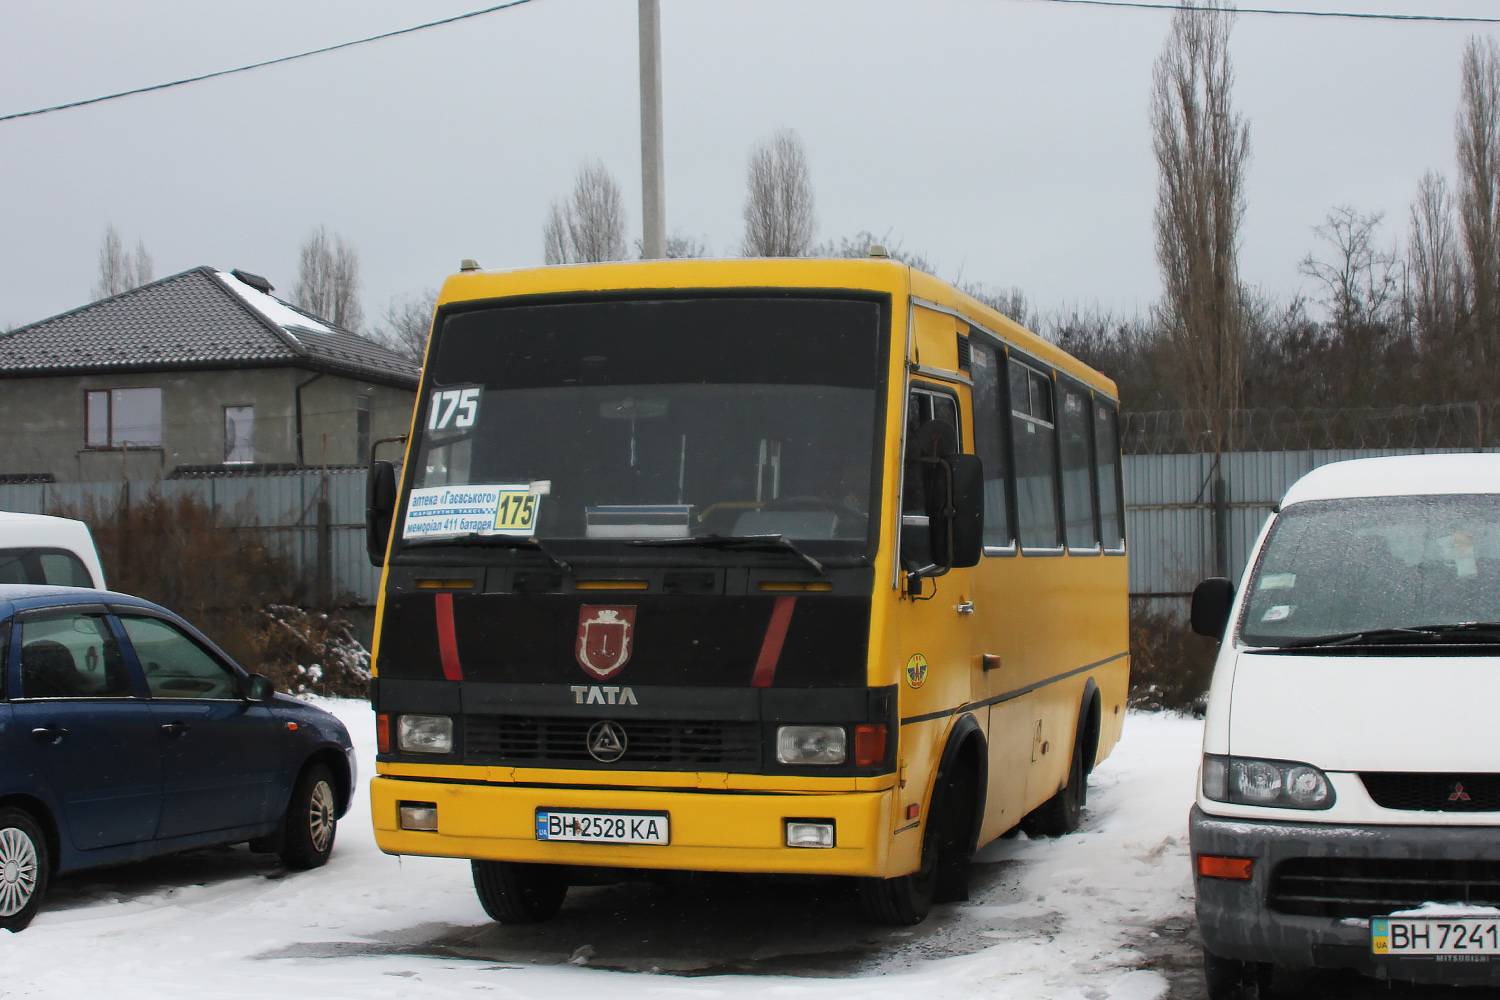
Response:
[[[1252,646],[1500,622],[1500,498],[1310,501],[1284,510],[1250,579]]]

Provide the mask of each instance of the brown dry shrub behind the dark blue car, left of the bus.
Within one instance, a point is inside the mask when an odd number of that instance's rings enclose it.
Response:
[[[177,612],[278,690],[366,697],[369,652],[346,622],[297,607],[312,583],[266,543],[248,508],[150,490],[114,508],[90,499],[50,513],[88,525],[111,589]]]

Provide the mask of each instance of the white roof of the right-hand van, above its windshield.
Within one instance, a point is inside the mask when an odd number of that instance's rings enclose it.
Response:
[[[1282,507],[1350,496],[1500,493],[1500,454],[1402,454],[1334,462],[1292,484]]]

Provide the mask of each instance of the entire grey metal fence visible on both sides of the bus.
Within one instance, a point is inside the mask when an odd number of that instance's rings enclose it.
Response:
[[[1212,453],[1126,454],[1125,526],[1131,597],[1182,613],[1198,580],[1238,577],[1270,508],[1299,477],[1329,462],[1388,454],[1474,448],[1348,448],[1236,451],[1215,465]],[[1215,481],[1224,489],[1215,495]],[[327,483],[327,507],[320,499]],[[374,604],[380,570],[364,555],[364,472],[290,472],[160,483],[0,484],[0,510],[32,513],[114,510],[124,490],[168,499],[196,495],[230,523],[267,532],[273,547],[333,595]]]

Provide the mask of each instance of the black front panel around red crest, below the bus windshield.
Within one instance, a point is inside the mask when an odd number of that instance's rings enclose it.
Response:
[[[453,639],[464,681],[750,687],[778,600],[795,600],[771,687],[864,687],[870,598],[806,595],[453,594]],[[632,607],[628,661],[609,678],[576,655],[584,606]],[[435,594],[392,594],[380,676],[444,678]]]

